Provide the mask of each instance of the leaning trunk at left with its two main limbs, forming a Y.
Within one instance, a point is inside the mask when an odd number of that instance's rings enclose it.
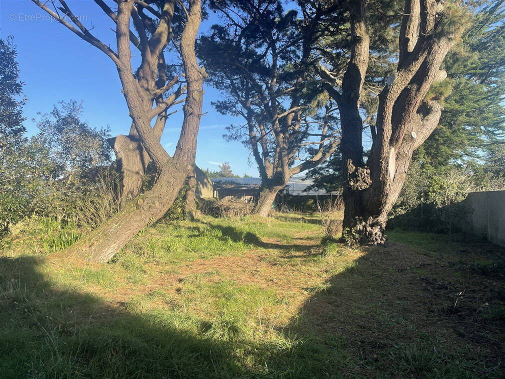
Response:
[[[187,95],[183,106],[184,120],[181,134],[173,157],[163,149],[160,138],[150,126],[150,103],[140,94],[141,88],[132,72],[129,20],[133,2],[119,2],[117,16],[118,73],[123,85],[130,116],[133,120],[142,146],[159,168],[159,176],[153,188],[128,203],[97,229],[87,234],[62,251],[65,259],[87,258],[96,262],[106,262],[112,258],[140,229],[150,222],[159,220],[173,204],[188,171],[192,167],[196,153],[196,137],[203,105],[203,82],[205,70],[197,64],[194,53],[196,33],[201,20],[199,0],[190,0],[189,14],[181,36],[181,58],[187,82]],[[149,109],[146,110],[145,106]]]

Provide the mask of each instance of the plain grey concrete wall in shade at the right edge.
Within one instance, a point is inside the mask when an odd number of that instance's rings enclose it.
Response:
[[[505,246],[505,191],[472,192],[463,203],[473,213],[462,223],[462,229]]]

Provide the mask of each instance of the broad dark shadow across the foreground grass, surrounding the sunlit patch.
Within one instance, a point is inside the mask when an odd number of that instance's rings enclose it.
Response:
[[[505,254],[493,249],[370,249],[312,289],[274,344],[207,338],[209,321],[182,330],[170,310],[60,288],[43,259],[0,258],[0,376],[503,377],[505,285],[492,262]]]

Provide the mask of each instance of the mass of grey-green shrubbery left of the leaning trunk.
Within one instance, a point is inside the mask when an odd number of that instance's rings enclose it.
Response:
[[[76,102],[41,116],[40,132],[4,156],[0,174],[0,230],[32,216],[94,228],[121,208],[119,177],[111,166],[108,129],[80,120]]]

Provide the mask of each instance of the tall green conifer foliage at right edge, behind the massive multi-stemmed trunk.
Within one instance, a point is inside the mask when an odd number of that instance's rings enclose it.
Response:
[[[426,172],[476,160],[504,138],[505,2],[486,2],[447,56],[450,94],[439,125],[416,152]]]

